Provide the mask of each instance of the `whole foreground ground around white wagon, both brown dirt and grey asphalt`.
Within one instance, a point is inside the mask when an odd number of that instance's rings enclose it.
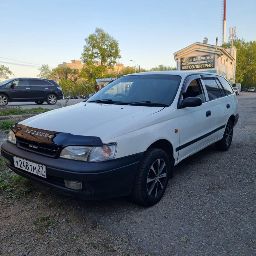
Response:
[[[36,184],[20,199],[0,191],[0,255],[256,255],[256,95],[238,99],[231,148],[211,145],[175,166],[153,207]]]

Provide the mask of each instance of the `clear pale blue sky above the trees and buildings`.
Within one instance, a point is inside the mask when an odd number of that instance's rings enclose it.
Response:
[[[209,44],[220,39],[221,6],[222,0],[2,0],[0,65],[16,77],[36,77],[37,68],[20,64],[55,68],[79,60],[84,39],[99,27],[119,42],[119,63],[176,66],[174,52],[204,37]],[[255,12],[256,0],[227,0],[226,41],[234,26],[238,38],[255,41]]]

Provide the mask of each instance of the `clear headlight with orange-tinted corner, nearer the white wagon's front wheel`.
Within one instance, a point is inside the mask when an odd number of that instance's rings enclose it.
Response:
[[[106,144],[103,146],[67,146],[60,154],[61,158],[96,162],[114,159],[116,154],[116,144]]]

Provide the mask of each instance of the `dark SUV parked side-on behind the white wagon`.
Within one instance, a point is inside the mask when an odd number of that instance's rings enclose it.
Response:
[[[0,106],[14,101],[34,101],[53,105],[63,99],[62,88],[50,79],[12,78],[0,82]]]

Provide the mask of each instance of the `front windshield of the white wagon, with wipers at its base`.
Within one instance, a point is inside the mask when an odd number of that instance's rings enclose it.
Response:
[[[177,75],[130,75],[122,76],[103,87],[87,102],[169,106],[171,105],[181,77]]]

